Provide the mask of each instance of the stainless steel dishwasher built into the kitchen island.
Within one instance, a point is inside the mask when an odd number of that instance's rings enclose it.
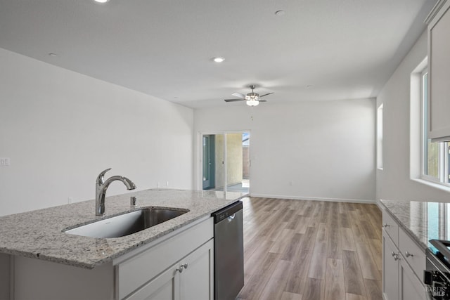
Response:
[[[244,286],[242,202],[235,202],[214,216],[214,299],[236,299]]]

